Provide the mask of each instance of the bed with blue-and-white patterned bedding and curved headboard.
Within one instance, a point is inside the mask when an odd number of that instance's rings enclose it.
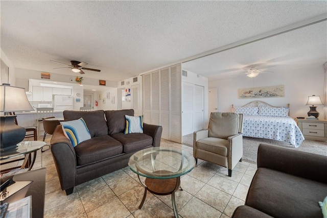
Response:
[[[305,139],[287,107],[275,107],[262,101],[244,106],[232,105],[232,111],[243,114],[243,136],[285,141],[295,148]]]

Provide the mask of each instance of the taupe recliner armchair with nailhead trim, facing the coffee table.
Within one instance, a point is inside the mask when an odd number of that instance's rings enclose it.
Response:
[[[198,158],[227,167],[228,176],[243,156],[242,136],[243,114],[213,112],[209,127],[194,132],[193,155]]]

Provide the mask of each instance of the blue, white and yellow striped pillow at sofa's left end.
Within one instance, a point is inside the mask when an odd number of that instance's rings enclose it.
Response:
[[[83,118],[61,122],[63,133],[71,140],[73,147],[91,138]]]

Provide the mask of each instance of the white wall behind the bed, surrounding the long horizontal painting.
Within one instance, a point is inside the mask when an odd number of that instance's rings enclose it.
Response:
[[[324,92],[324,69],[321,66],[276,66],[272,73],[260,74],[256,78],[248,78],[240,75],[237,78],[229,78],[219,81],[210,81],[209,88],[218,89],[218,111],[231,111],[231,105],[243,106],[251,101],[264,101],[273,106],[286,106],[290,104],[290,116],[308,116],[310,110],[307,106],[309,95],[320,95],[321,100]],[[285,86],[284,98],[260,98],[238,99],[238,89],[274,85]],[[323,118],[323,106],[318,106],[319,118]]]

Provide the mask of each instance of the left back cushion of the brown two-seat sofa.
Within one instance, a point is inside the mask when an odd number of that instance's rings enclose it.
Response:
[[[91,137],[108,135],[108,127],[104,118],[103,110],[96,111],[63,111],[63,117],[65,121],[83,118],[86,126],[90,131]]]

